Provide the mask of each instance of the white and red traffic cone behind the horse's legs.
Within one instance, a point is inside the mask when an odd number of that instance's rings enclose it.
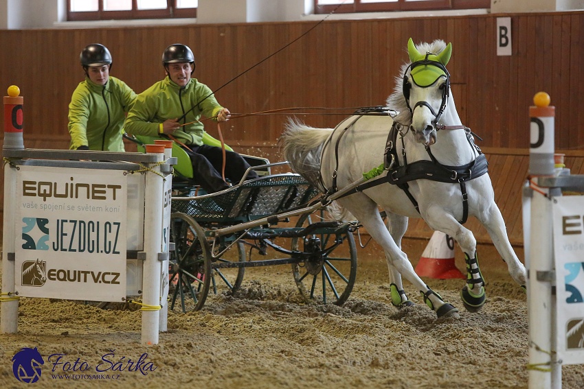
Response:
[[[454,239],[441,231],[434,231],[415,270],[432,279],[466,278],[454,263]]]

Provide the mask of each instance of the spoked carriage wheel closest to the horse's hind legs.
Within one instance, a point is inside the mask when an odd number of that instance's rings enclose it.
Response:
[[[314,218],[314,214],[302,215],[296,226],[306,227]],[[349,298],[357,277],[357,248],[350,231],[339,235],[341,244],[334,247],[336,239],[334,233],[292,239],[292,250],[313,252],[305,262],[292,264],[294,281],[306,303],[342,305]]]

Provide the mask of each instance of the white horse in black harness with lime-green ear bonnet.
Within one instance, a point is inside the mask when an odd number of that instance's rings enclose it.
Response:
[[[396,307],[412,305],[403,291],[403,275],[438,317],[458,317],[458,309],[425,285],[401,250],[409,217],[423,217],[431,228],[447,233],[462,248],[467,281],[461,296],[468,311],[481,309],[486,298],[476,239],[462,225],[469,215],[484,225],[513,279],[526,284],[525,267],[510,245],[495,204],[486,158],[456,112],[446,69],[451,50],[451,44],[442,40],[416,47],[410,38],[411,63],[404,64],[396,78],[396,89],[388,98],[391,110],[354,115],[335,130],[289,121],[280,138],[293,169],[329,197],[337,189],[365,182],[337,203],[385,250],[392,303]],[[388,137],[390,129],[393,137]],[[368,187],[374,180],[381,183]],[[388,215],[389,228],[378,206]]]

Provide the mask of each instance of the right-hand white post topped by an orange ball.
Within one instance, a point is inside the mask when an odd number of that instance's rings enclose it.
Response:
[[[537,93],[530,106],[530,150],[529,176],[539,186],[539,178],[554,175],[554,116],[555,107],[550,106],[550,96]],[[554,255],[550,237],[553,236],[552,196],[559,189],[540,188],[531,198],[530,247],[528,271],[528,328],[529,364],[528,387],[530,389],[552,388],[552,377],[557,377],[555,341],[552,332],[554,316]],[[560,191],[561,194],[561,191]],[[561,374],[561,373],[560,373]],[[561,379],[559,382],[561,387]]]

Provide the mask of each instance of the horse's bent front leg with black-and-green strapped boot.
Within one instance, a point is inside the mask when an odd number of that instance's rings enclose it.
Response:
[[[429,207],[423,216],[432,229],[450,235],[462,248],[464,262],[467,264],[467,283],[460,291],[460,298],[467,311],[480,311],[486,301],[486,292],[478,262],[477,241],[473,233],[440,207]]]

